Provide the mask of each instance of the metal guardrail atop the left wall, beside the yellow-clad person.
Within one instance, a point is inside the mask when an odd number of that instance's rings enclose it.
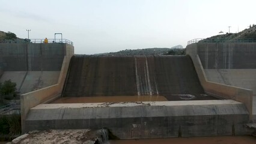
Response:
[[[35,38],[35,39],[16,39],[16,40],[1,40],[0,43],[44,43],[44,39]],[[73,42],[67,39],[48,39],[48,43],[66,43],[72,44]]]

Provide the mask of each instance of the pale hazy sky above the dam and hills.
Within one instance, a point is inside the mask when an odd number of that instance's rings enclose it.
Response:
[[[75,53],[172,47],[219,31],[237,32],[255,20],[255,0],[0,0],[0,31],[54,38],[61,32]]]

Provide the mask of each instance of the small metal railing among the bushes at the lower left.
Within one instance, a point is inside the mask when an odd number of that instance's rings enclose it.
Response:
[[[20,104],[11,103],[0,107],[0,115],[20,114]]]

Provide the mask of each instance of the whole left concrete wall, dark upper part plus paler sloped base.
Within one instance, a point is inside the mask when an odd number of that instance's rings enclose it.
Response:
[[[66,44],[0,44],[0,82],[16,82],[20,94],[58,82]]]

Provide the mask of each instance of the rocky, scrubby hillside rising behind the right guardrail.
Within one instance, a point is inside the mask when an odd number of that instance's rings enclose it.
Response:
[[[213,37],[209,37],[204,40],[213,40],[218,38],[227,39],[227,40],[236,40],[236,39],[242,39],[242,38],[256,38],[256,25],[253,25],[251,26],[251,28],[245,29],[239,33],[227,33],[222,35],[215,35]]]

